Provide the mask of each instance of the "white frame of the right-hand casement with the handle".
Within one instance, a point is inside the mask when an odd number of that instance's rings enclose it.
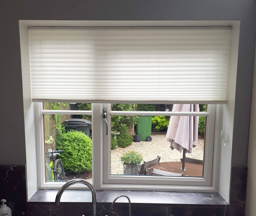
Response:
[[[208,105],[207,112],[138,112],[138,111],[109,111],[111,104],[103,104],[108,110],[108,124],[111,125],[111,115],[137,115],[137,116],[207,116],[205,130],[205,150],[204,150],[204,176],[198,177],[163,177],[163,176],[120,176],[111,175],[111,137],[103,135],[103,183],[101,188],[125,188],[125,189],[202,189],[213,190],[212,188],[212,170],[213,153],[217,145],[214,144],[216,105]],[[106,130],[103,126],[103,131]],[[211,131],[211,133],[210,133]],[[104,134],[104,133],[103,133]],[[111,134],[111,128],[108,128],[108,134]]]

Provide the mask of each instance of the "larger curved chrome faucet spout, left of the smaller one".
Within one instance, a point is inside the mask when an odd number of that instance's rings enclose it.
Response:
[[[93,188],[93,185],[91,184],[91,182],[87,181],[87,180],[84,180],[84,179],[73,179],[73,180],[70,180],[68,181],[66,184],[64,184],[60,190],[58,191],[57,195],[56,195],[56,198],[55,198],[55,205],[60,205],[60,198],[63,194],[63,192],[71,185],[73,184],[78,184],[78,183],[81,183],[81,184],[84,184],[86,185],[92,192],[92,211],[93,211],[93,216],[96,216],[97,212],[97,199],[96,199],[96,191],[95,189]]]

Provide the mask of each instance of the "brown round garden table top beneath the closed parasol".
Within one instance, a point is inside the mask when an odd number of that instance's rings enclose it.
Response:
[[[161,162],[149,165],[147,168],[154,168],[158,170],[163,170],[167,172],[176,172],[176,173],[184,173],[187,176],[193,176],[193,177],[203,177],[203,164],[196,164],[196,163],[190,163],[186,162],[186,170],[181,170],[182,162],[181,161],[171,161],[171,162]]]

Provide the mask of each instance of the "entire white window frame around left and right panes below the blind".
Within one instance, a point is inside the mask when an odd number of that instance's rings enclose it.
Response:
[[[45,151],[44,151],[44,114],[69,114],[69,115],[92,115],[92,181],[96,188],[100,189],[184,189],[189,190],[202,189],[213,190],[212,188],[212,170],[213,170],[213,152],[217,145],[214,144],[216,105],[208,105],[207,112],[140,112],[140,111],[110,111],[111,104],[92,104],[92,111],[83,110],[43,110],[42,103],[38,105],[38,127],[39,127],[39,149],[40,149],[40,188],[59,188],[62,182],[45,181]],[[204,148],[204,176],[198,177],[161,177],[161,176],[121,176],[111,175],[111,127],[106,127],[103,123],[103,107],[108,110],[107,120],[109,125],[111,115],[165,115],[165,116],[207,116],[205,131]],[[218,120],[218,119],[217,119]],[[101,128],[101,130],[99,130]],[[99,135],[100,134],[100,135]],[[97,150],[95,150],[95,148]],[[95,160],[94,160],[95,158]],[[97,160],[100,158],[100,160]],[[103,163],[104,161],[104,163]],[[96,178],[96,176],[98,176]],[[96,181],[95,181],[96,180]],[[73,186],[79,188],[79,186]]]

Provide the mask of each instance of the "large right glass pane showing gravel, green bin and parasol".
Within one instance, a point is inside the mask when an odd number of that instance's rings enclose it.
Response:
[[[182,118],[194,119],[193,116]],[[185,177],[203,177],[205,120],[204,116],[199,117],[198,134],[194,134],[195,141],[190,143],[191,153],[186,153],[189,158],[185,159],[186,171],[181,171],[183,150],[177,150],[179,145],[173,142],[179,143],[178,139],[186,138],[189,141],[189,134],[179,129],[180,137],[172,140],[172,150],[171,140],[166,140],[170,116],[111,116],[111,175],[139,175],[143,161],[155,159],[151,164],[146,163],[147,168],[154,168],[148,171],[150,175],[179,176],[184,173]],[[168,130],[169,135],[172,133]],[[157,156],[161,157],[160,161]],[[147,174],[146,167],[141,171]]]

